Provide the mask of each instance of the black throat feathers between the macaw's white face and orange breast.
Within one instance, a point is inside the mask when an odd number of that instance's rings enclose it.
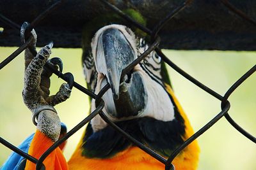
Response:
[[[164,122],[151,117],[141,117],[116,122],[116,125],[163,157],[167,157],[184,142],[184,120],[177,109],[172,121]],[[92,125],[88,124],[81,148],[84,157],[108,159],[131,146],[134,146],[131,141],[111,126],[107,125],[104,129],[93,132]]]

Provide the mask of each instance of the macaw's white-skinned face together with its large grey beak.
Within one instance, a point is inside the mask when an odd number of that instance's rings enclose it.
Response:
[[[111,88],[103,96],[103,111],[111,120],[116,122],[140,117],[162,121],[174,119],[173,103],[161,74],[163,64],[156,52],[151,52],[129,73],[122,75],[125,67],[147,50],[144,38],[136,36],[125,25],[112,24],[99,29],[91,45],[92,50],[84,57],[84,74],[95,94],[109,83]],[[95,101],[92,100],[94,109]],[[93,118],[94,131],[105,126],[100,117]]]

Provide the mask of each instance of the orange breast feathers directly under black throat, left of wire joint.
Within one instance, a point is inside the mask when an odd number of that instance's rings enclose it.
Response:
[[[123,152],[117,153],[115,157],[109,159],[90,159],[82,157],[82,151],[76,150],[72,158],[68,161],[68,168],[72,169],[140,169],[140,170],[161,170],[164,164],[154,159],[138,147],[129,147]]]

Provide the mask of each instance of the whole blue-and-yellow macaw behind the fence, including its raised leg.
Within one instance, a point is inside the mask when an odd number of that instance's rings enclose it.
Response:
[[[125,12],[146,24],[140,13]],[[102,97],[104,113],[132,137],[168,158],[194,133],[193,128],[173,94],[164,62],[156,52],[151,52],[132,71],[121,76],[122,70],[147,50],[148,38],[117,15],[109,16],[95,18],[83,29],[82,60],[88,89],[97,94],[109,83],[111,88]],[[24,41],[24,31],[21,33]],[[35,48],[36,33],[34,30],[31,33],[34,37],[31,48]],[[36,57],[29,49],[25,52],[22,95],[26,106],[38,114],[28,153],[37,159],[60,137],[60,118],[53,106],[68,99],[71,93],[70,85],[63,83],[56,95],[49,96],[51,72],[44,64],[51,48],[51,44],[44,46]],[[95,107],[95,100],[91,99],[91,111]],[[177,170],[194,170],[198,157],[199,147],[193,141],[177,155],[173,164]],[[46,169],[164,169],[164,164],[133,145],[99,115],[88,123],[68,162],[60,148],[56,148],[44,165]],[[27,160],[24,169],[35,169],[35,164]]]

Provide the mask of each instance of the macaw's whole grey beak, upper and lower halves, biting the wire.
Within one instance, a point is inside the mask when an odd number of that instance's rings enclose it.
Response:
[[[142,74],[135,66],[122,75],[125,67],[137,59],[133,32],[124,26],[103,27],[95,34],[92,48],[100,89],[107,83],[111,87],[103,96],[107,113],[118,120],[140,115],[147,105]]]

